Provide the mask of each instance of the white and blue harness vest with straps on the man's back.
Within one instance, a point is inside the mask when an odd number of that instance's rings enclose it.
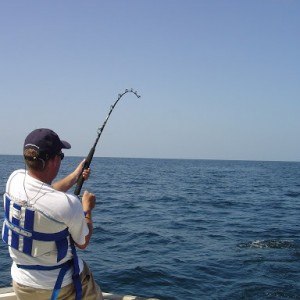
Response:
[[[18,265],[27,270],[55,270],[60,269],[51,300],[57,299],[63,278],[70,267],[73,266],[73,283],[76,289],[76,300],[82,297],[80,270],[74,242],[69,234],[68,227],[57,222],[43,212],[33,207],[20,205],[10,196],[4,194],[5,219],[2,228],[3,241],[20,252],[32,257],[38,257],[50,251],[57,252],[57,262],[66,257],[68,246],[72,249],[73,259],[55,266]],[[51,225],[51,226],[50,226]],[[39,231],[39,227],[42,229]],[[38,229],[38,230],[37,230]]]

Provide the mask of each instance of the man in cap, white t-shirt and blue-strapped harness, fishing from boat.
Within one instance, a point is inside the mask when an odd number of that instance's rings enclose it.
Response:
[[[67,194],[84,161],[64,179],[58,174],[62,149],[71,145],[50,129],[32,131],[24,142],[26,169],[14,171],[4,194],[2,238],[13,260],[13,288],[21,300],[103,299],[76,247],[85,249],[93,232],[95,195],[84,192],[82,203]],[[83,172],[86,179],[89,169]]]

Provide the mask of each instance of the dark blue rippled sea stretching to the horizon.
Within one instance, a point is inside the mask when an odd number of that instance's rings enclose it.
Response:
[[[80,161],[65,157],[59,176]],[[0,164],[3,193],[24,164],[21,156]],[[84,188],[97,205],[91,244],[79,255],[103,291],[300,299],[299,162],[94,158]],[[0,286],[8,286],[3,243],[0,263]]]

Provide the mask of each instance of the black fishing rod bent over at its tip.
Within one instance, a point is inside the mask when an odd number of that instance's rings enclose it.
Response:
[[[93,146],[92,146],[92,148],[91,148],[91,150],[90,150],[88,156],[87,156],[86,159],[85,159],[85,162],[84,162],[84,166],[83,166],[82,172],[83,172],[84,169],[89,168],[89,166],[90,166],[90,164],[91,164],[91,161],[92,161],[92,159],[93,159],[93,157],[94,157],[94,153],[95,153],[95,150],[96,150],[96,146],[97,146],[97,144],[98,144],[98,141],[99,141],[99,139],[100,139],[100,136],[101,136],[101,134],[102,134],[102,132],[103,132],[103,130],[104,130],[104,127],[105,127],[105,125],[106,125],[106,123],[107,123],[107,121],[108,121],[108,119],[109,119],[109,117],[110,117],[112,111],[114,110],[114,108],[115,108],[115,106],[117,105],[117,103],[119,102],[119,100],[120,100],[125,94],[127,94],[127,93],[133,93],[137,98],[140,98],[140,97],[141,97],[140,95],[138,95],[138,93],[137,93],[136,91],[133,91],[133,89],[130,89],[130,90],[126,89],[124,93],[118,95],[118,99],[115,101],[115,103],[114,103],[113,105],[111,105],[110,110],[109,110],[109,113],[108,113],[108,115],[107,115],[105,121],[103,122],[102,126],[99,127],[98,130],[97,130],[97,137],[96,137],[96,140],[95,140],[95,142],[94,142],[94,144],[93,144]],[[74,191],[74,194],[77,195],[77,196],[80,194],[80,191],[81,191],[81,188],[82,188],[82,185],[83,185],[83,182],[84,182],[84,178],[83,178],[83,176],[82,176],[82,172],[81,172],[81,175],[79,176],[79,178],[78,178],[78,180],[77,180],[77,184],[76,184],[75,191]]]

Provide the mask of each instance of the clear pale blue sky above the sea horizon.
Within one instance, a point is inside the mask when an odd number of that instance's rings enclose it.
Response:
[[[300,1],[0,1],[0,153],[300,160]]]

